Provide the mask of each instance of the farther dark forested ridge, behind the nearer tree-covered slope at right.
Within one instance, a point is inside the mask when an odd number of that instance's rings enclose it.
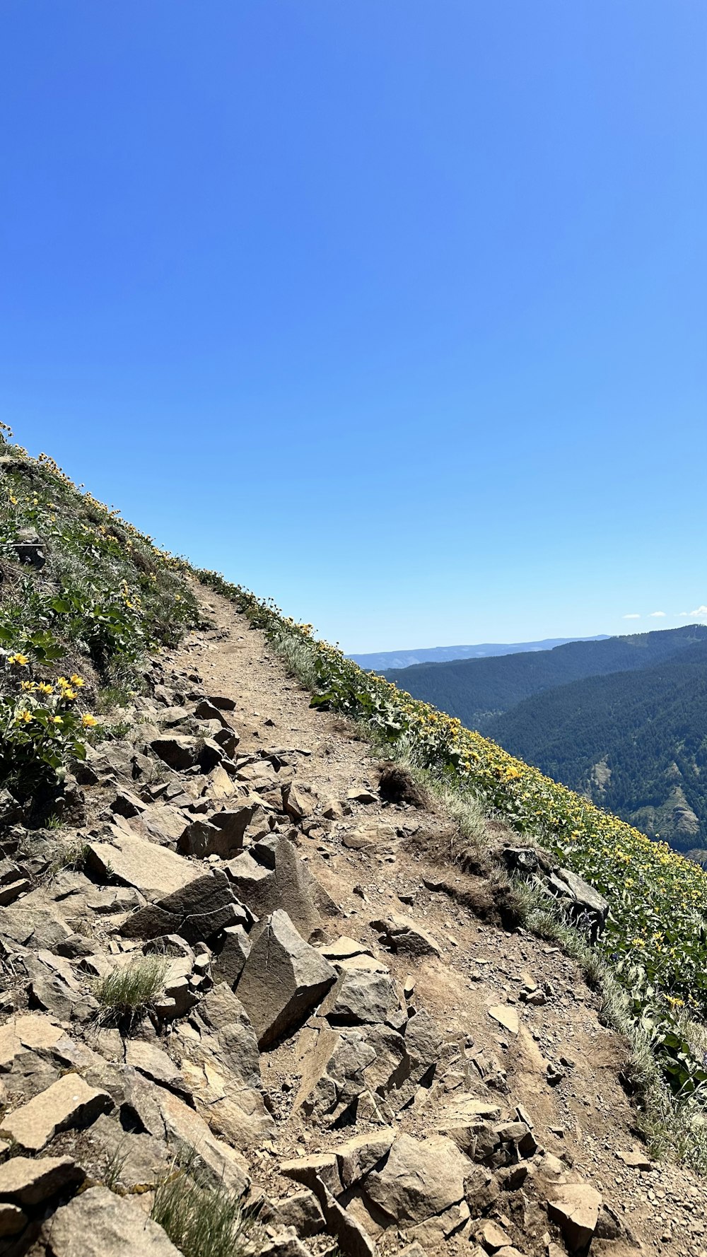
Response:
[[[385,676],[414,698],[484,733],[494,728],[494,719],[503,711],[533,694],[586,676],[652,667],[696,641],[707,641],[707,626],[686,625],[603,641],[575,641],[537,654],[423,664],[390,670]]]

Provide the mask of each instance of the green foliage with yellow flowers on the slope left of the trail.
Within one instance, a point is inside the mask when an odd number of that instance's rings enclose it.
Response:
[[[199,610],[181,559],[0,427],[0,779],[21,799],[99,735],[87,710],[94,690],[138,688],[146,655],[175,645]],[[19,562],[21,530],[39,537],[44,567]],[[87,684],[68,699],[57,674],[77,665]]]

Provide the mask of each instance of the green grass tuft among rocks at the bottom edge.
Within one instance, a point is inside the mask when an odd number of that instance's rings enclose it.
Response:
[[[184,1257],[240,1257],[258,1251],[242,1198],[225,1187],[209,1187],[189,1163],[159,1184],[151,1217]]]

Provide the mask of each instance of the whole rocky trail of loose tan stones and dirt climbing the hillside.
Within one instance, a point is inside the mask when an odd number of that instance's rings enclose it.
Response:
[[[186,1155],[268,1257],[706,1257],[576,964],[200,597],[62,827],[6,830],[0,1253],[176,1253],[150,1210]],[[121,975],[145,1016],[108,1016]]]

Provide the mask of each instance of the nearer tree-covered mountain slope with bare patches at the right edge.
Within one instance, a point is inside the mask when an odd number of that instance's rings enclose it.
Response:
[[[489,733],[647,833],[683,851],[707,846],[707,642],[546,690]]]

